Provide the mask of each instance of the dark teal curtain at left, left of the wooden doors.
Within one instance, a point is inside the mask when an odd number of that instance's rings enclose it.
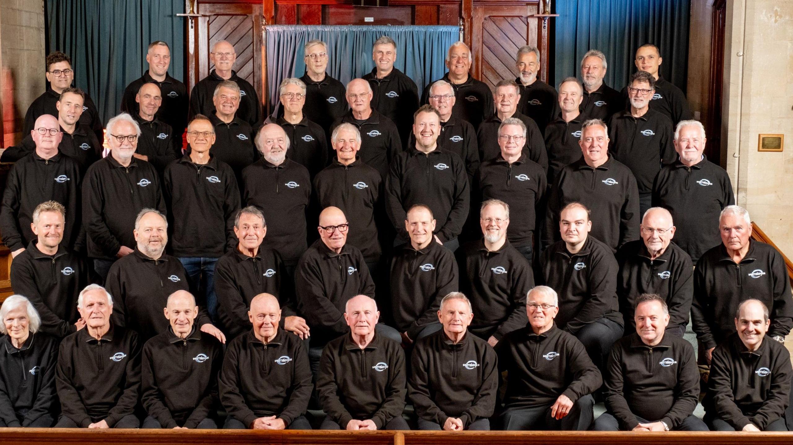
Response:
[[[176,16],[184,12],[184,0],[45,0],[45,46],[71,57],[75,86],[107,123],[126,86],[148,69],[152,40],[170,45],[168,73],[184,82],[185,19]]]

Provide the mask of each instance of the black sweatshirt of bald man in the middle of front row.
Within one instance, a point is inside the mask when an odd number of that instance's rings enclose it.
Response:
[[[353,419],[371,419],[380,429],[402,415],[405,379],[400,344],[375,333],[361,349],[347,333],[322,351],[316,391],[324,412],[341,428]]]

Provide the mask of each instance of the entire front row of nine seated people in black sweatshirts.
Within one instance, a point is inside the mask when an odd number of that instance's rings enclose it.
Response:
[[[376,329],[374,299],[347,300],[347,333],[325,346],[316,372],[327,415],[320,428],[409,429],[407,396],[422,430],[489,430],[492,419],[518,431],[708,431],[706,423],[718,431],[787,431],[790,354],[764,338],[771,321],[762,302],[738,306],[737,332],[713,352],[703,422],[693,415],[694,350],[665,333],[669,314],[660,296],[637,299],[635,332],[611,349],[603,376],[584,345],[556,325],[556,292],[538,286],[526,298],[528,325],[494,350],[468,333],[476,318],[469,299],[445,295],[439,329],[416,342],[409,366],[400,344]],[[143,418],[143,428],[312,428],[308,351],[281,329],[274,295],[255,296],[252,328],[225,351],[197,328],[199,309],[187,291],[168,297],[168,329],[147,341],[113,323],[113,298],[103,287],[83,289],[78,304],[85,325],[60,344],[39,332],[40,316],[25,297],[13,295],[0,308],[0,425],[139,428]],[[594,420],[592,394],[602,383],[607,412]]]

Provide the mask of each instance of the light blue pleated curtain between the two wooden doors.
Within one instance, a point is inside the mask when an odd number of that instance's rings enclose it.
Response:
[[[446,73],[446,51],[460,39],[457,26],[270,25],[266,28],[267,86],[271,105],[278,102],[284,78],[305,74],[303,45],[319,39],[328,44],[328,74],[344,84],[374,67],[372,45],[381,36],[397,42],[394,67],[423,87]]]

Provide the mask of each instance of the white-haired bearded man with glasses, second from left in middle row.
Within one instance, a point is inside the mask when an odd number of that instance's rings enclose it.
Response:
[[[82,226],[88,257],[104,280],[113,261],[132,253],[132,226],[144,208],[165,212],[159,173],[151,163],[133,154],[140,126],[127,113],[107,123],[110,154],[94,162],[82,184]]]

